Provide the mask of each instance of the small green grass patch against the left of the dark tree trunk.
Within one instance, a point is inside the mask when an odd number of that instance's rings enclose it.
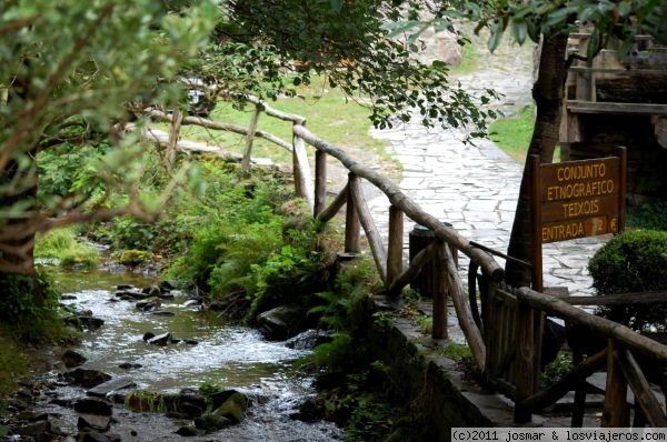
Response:
[[[526,162],[526,152],[532,137],[534,109],[532,106],[526,107],[516,115],[498,119],[489,127],[491,140],[519,163]]]

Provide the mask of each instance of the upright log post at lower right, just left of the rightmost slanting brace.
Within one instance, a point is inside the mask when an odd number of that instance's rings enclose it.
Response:
[[[600,423],[603,428],[629,426],[630,424],[630,409],[626,399],[628,383],[615,356],[618,349],[618,342],[609,339],[609,343],[607,344],[605,410]]]

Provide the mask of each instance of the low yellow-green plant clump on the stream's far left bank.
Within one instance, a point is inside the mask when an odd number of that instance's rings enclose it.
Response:
[[[77,241],[72,228],[51,230],[38,237],[34,257],[56,258],[63,267],[78,264],[92,268],[100,261],[100,252],[86,242]]]

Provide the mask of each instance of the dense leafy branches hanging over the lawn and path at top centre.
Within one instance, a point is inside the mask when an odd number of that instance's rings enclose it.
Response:
[[[492,113],[477,109],[467,92],[447,81],[444,62],[424,66],[410,59],[414,40],[402,44],[390,38],[405,28],[400,21],[406,11],[411,20],[421,12],[435,13],[428,3],[362,0],[332,7],[327,1],[232,0],[228,4],[228,20],[217,27],[213,48],[232,62],[207,63],[217,68],[213,77],[227,90],[275,99],[293,94],[289,83],[308,84],[315,73],[326,74],[329,87],[340,87],[348,97],[370,98],[370,119],[380,128],[390,127],[391,120],[410,120],[417,109],[427,125],[472,124],[480,131]],[[447,28],[454,30],[451,23]]]

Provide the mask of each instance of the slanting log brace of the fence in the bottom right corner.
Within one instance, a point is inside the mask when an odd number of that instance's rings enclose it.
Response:
[[[637,409],[637,405],[641,408],[651,428],[666,428],[667,419],[663,408],[633,354],[627,349],[618,349],[616,354],[623,374],[635,393],[635,409]]]

